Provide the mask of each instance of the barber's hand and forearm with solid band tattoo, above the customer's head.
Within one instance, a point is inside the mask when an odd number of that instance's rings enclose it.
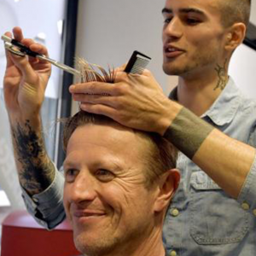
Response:
[[[148,71],[142,76],[118,73],[115,84],[76,84],[70,91],[88,112],[102,113],[123,125],[165,136],[227,194],[234,198],[240,194],[253,165],[255,149],[170,101]],[[105,95],[84,95],[102,91]]]

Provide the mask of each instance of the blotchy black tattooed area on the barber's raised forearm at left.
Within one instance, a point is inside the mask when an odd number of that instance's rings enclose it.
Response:
[[[55,176],[55,167],[49,160],[44,139],[32,130],[30,122],[12,129],[15,154],[20,166],[20,183],[26,191],[38,194],[49,187]]]

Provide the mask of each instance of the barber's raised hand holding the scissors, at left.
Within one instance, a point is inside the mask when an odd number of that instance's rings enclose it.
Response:
[[[23,38],[20,27],[13,29],[14,38],[33,51],[48,55],[47,49]],[[6,36],[12,38],[11,32]],[[44,101],[44,91],[49,80],[51,67],[47,61],[32,57],[22,57],[6,50],[7,67],[3,79],[3,92],[10,119],[30,119],[39,114]]]

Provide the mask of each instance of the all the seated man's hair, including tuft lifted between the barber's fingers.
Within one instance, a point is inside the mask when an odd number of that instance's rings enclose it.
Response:
[[[90,64],[87,61],[79,58],[77,60],[77,66],[79,67],[81,73],[82,82],[88,81],[100,81],[106,83],[113,83],[115,79],[115,73],[113,70],[108,68],[106,72],[101,66]],[[100,70],[101,73],[96,72],[96,69]],[[67,150],[67,143],[70,137],[79,126],[82,125],[113,125],[117,124],[113,119],[107,116],[87,113],[80,110],[73,117],[67,119],[63,131],[63,146],[64,150]],[[129,128],[127,128],[129,129]],[[150,187],[157,177],[176,166],[177,160],[177,149],[169,143],[164,137],[159,134],[147,131],[138,131],[131,129],[138,134],[138,136],[143,137],[147,142],[147,155],[144,157],[144,164],[146,167],[146,187]]]

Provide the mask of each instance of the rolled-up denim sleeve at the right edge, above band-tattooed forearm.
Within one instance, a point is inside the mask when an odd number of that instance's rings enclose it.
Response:
[[[237,201],[244,210],[252,212],[254,216],[256,215],[256,157],[254,158],[250,172],[247,174],[246,181],[243,184]]]

